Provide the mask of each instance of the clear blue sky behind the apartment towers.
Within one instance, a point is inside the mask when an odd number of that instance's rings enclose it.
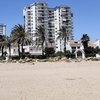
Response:
[[[1,0],[0,23],[7,25],[7,35],[15,24],[23,24],[23,8],[38,0]],[[49,7],[69,5],[74,14],[73,34],[80,39],[87,33],[91,40],[100,39],[100,0],[44,0]]]

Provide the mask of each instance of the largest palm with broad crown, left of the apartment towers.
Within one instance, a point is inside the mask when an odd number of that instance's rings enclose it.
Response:
[[[26,45],[26,44],[30,44],[31,43],[30,34],[26,33],[25,32],[25,28],[22,25],[18,24],[18,25],[14,26],[14,28],[13,28],[13,30],[11,32],[11,37],[18,44],[19,57],[23,58],[23,54],[24,54],[23,46]],[[20,53],[20,46],[21,46],[22,55]]]

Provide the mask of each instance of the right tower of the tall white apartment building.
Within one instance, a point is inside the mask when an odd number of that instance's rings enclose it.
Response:
[[[58,32],[60,28],[63,26],[66,28],[66,31],[69,33],[69,40],[73,39],[73,22],[72,22],[73,14],[71,12],[71,8],[64,5],[56,7],[54,10],[54,27],[55,27],[55,49],[57,51],[64,51],[64,41],[62,39],[57,39]],[[67,41],[67,40],[66,40]],[[69,44],[66,44],[66,49]]]

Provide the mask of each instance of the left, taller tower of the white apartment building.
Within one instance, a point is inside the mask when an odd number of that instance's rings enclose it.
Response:
[[[23,10],[25,30],[31,33],[33,40],[36,28],[40,25],[44,26],[46,38],[48,38],[48,6],[45,2],[36,2],[28,5]]]

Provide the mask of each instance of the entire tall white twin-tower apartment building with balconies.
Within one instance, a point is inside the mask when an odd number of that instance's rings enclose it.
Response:
[[[23,10],[24,24],[26,32],[34,36],[36,28],[44,26],[47,42],[54,42],[54,48],[57,51],[63,51],[63,41],[57,39],[57,34],[62,26],[70,32],[69,39],[73,39],[71,8],[68,6],[58,6],[49,8],[45,2],[35,2],[26,6]],[[33,40],[35,37],[33,37]]]

